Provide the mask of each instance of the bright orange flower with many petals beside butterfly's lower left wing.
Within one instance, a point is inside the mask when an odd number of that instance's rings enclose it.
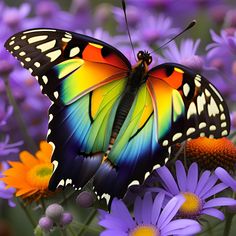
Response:
[[[42,141],[35,156],[23,151],[20,153],[21,161],[10,161],[11,167],[3,173],[2,181],[7,188],[16,189],[16,197],[37,201],[48,196],[48,182],[53,171],[51,156],[52,146]]]

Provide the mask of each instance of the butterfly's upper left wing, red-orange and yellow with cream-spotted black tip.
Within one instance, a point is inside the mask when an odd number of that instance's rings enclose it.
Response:
[[[17,33],[5,47],[38,79],[42,93],[54,102],[59,98],[63,104],[126,75],[131,68],[114,47],[58,29]]]

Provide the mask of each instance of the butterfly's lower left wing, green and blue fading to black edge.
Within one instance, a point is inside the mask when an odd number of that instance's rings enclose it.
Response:
[[[55,145],[57,166],[51,189],[67,183],[82,187],[98,170],[125,84],[126,79],[113,81],[68,106],[51,106],[48,141]]]

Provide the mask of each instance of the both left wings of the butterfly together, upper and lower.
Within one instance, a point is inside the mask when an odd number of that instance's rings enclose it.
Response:
[[[53,102],[47,137],[54,146],[49,187],[82,187],[108,146],[129,61],[102,41],[56,29],[17,33],[5,46]]]

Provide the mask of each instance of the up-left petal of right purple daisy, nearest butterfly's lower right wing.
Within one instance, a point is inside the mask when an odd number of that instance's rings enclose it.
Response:
[[[164,187],[173,195],[177,195],[179,193],[179,189],[168,168],[166,166],[160,167],[157,169],[157,173],[162,179]]]

